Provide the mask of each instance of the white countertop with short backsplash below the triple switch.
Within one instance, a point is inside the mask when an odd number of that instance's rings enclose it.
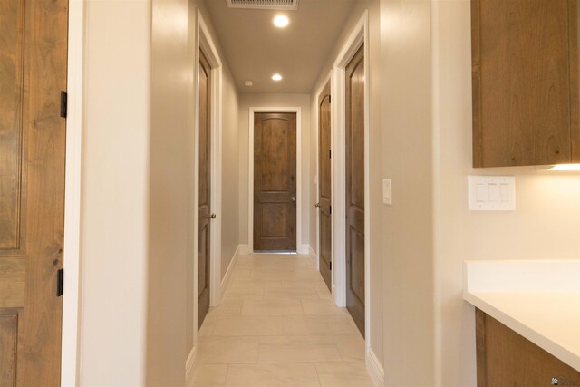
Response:
[[[580,260],[465,261],[463,298],[580,371]]]

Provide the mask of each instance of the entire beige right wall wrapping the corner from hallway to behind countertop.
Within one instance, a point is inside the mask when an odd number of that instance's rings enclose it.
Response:
[[[470,55],[469,0],[382,0],[388,386],[477,385],[463,260],[579,256],[580,176],[471,167]],[[469,174],[516,176],[516,211],[469,211]]]

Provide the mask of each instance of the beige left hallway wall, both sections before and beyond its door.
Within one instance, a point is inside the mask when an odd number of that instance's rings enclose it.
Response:
[[[237,186],[237,92],[201,1],[154,0],[147,383],[182,385],[195,332],[195,46],[198,11],[222,62],[223,188]],[[233,170],[231,170],[233,169]],[[224,189],[221,276],[237,248],[237,190]]]

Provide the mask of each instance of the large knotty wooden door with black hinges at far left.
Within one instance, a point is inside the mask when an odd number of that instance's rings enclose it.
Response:
[[[67,0],[0,1],[0,385],[58,386]]]

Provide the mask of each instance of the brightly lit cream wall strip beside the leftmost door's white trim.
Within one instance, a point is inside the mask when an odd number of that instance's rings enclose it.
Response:
[[[86,3],[79,384],[145,384],[151,2]]]

